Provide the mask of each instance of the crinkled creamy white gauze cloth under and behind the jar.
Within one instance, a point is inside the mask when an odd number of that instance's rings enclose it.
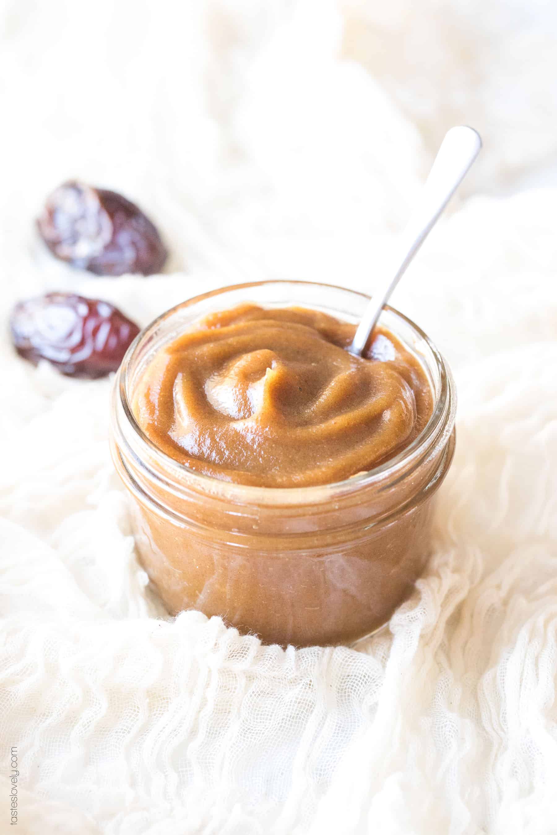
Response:
[[[451,124],[484,151],[397,289],[458,384],[428,576],[364,652],[157,620],[109,381],[0,347],[0,832],[557,832],[557,99],[550,3],[3,0],[0,316],[77,289],[145,324],[258,278],[372,290]],[[89,278],[33,230],[78,176],[169,275]]]

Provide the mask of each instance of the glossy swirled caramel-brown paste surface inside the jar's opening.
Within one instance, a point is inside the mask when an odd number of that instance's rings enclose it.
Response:
[[[327,314],[241,305],[207,316],[147,367],[134,399],[144,433],[200,473],[307,487],[369,470],[412,443],[432,413],[419,362],[376,329]]]

